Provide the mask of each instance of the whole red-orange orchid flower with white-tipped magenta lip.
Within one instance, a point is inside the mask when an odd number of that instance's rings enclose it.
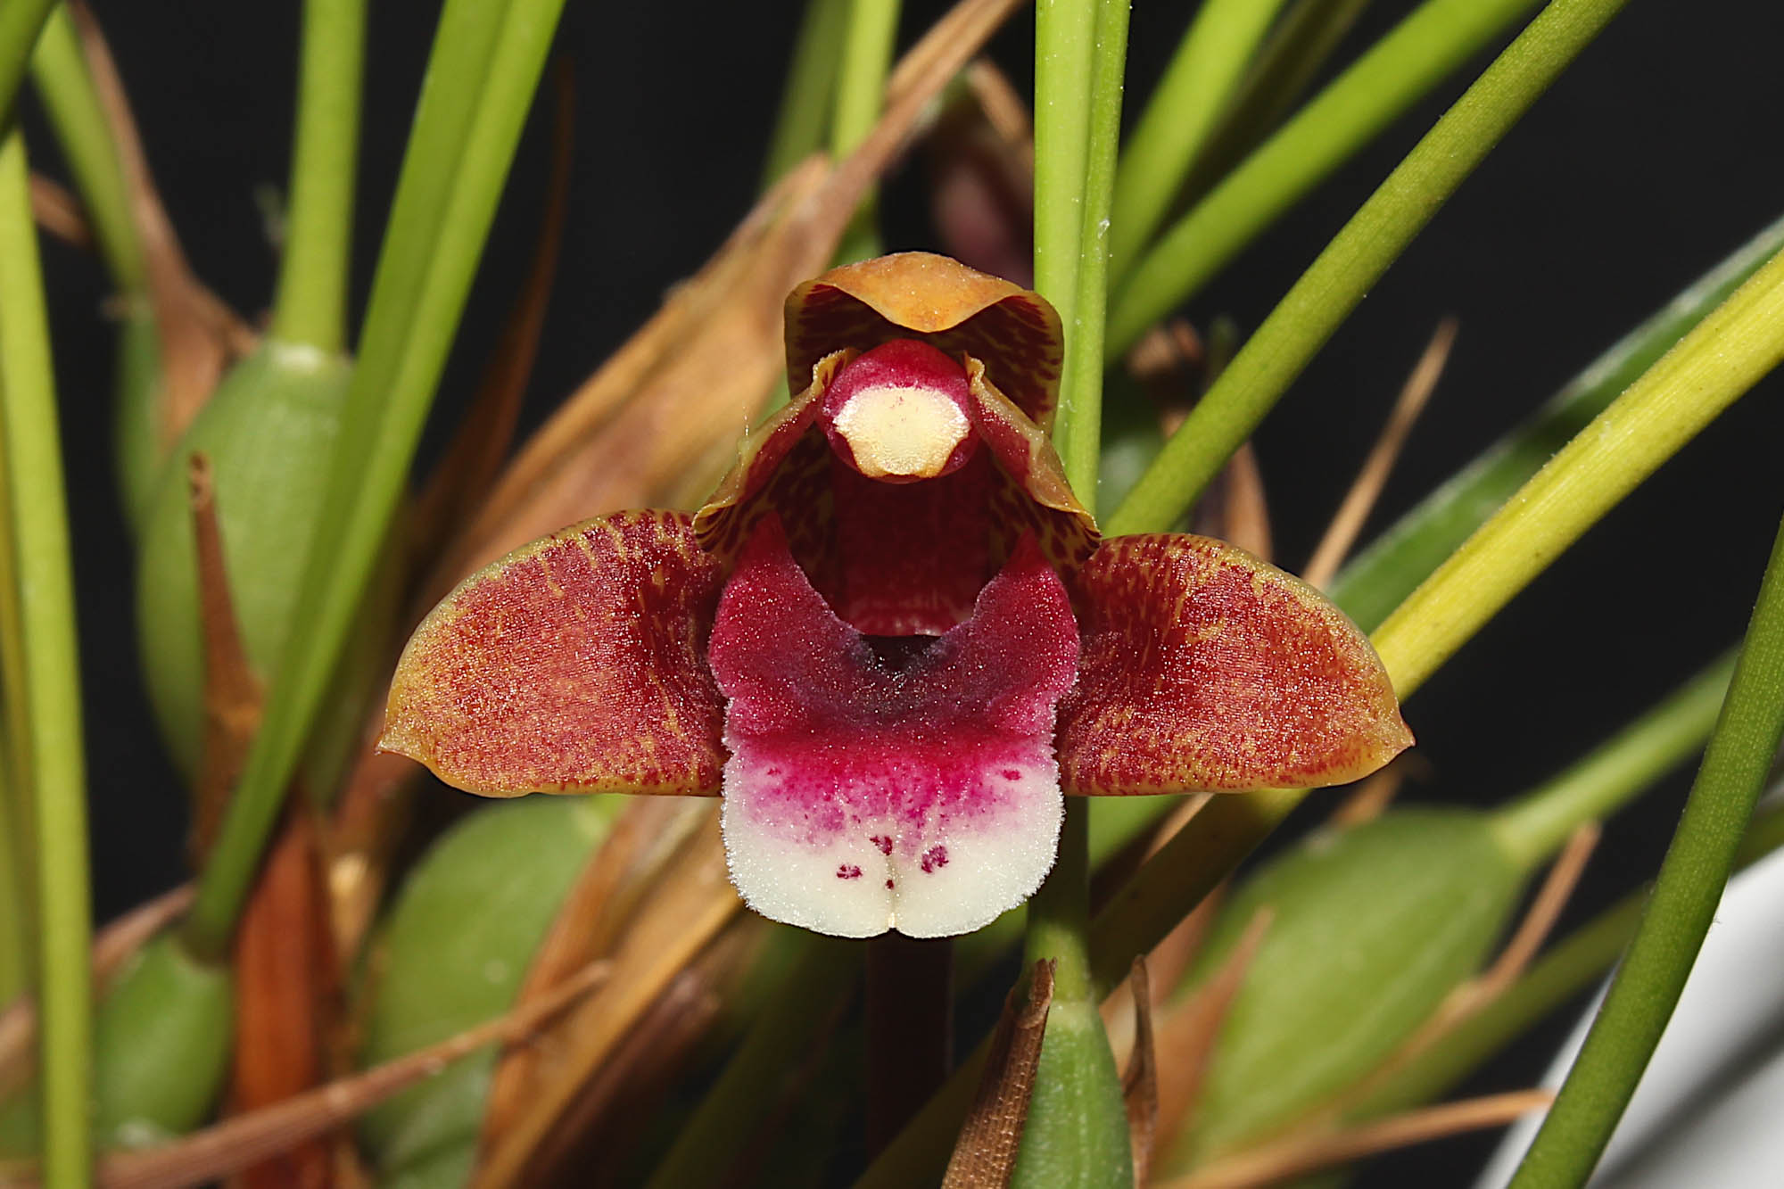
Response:
[[[1343,612],[1186,534],[1103,541],[1047,441],[1058,314],[951,259],[787,298],[789,386],[692,516],[598,516],[416,628],[382,748],[485,796],[723,793],[731,882],[824,934],[1022,903],[1061,793],[1311,787],[1411,743]]]

